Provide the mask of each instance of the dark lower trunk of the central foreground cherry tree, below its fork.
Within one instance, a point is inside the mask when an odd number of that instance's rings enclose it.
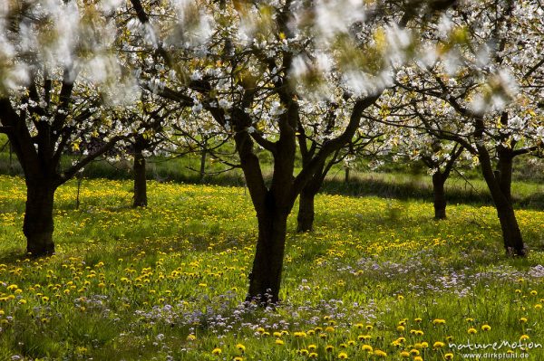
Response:
[[[275,304],[279,300],[279,286],[286,246],[288,213],[267,205],[266,212],[257,214],[258,240],[253,269],[249,274],[247,300],[259,304]]]

